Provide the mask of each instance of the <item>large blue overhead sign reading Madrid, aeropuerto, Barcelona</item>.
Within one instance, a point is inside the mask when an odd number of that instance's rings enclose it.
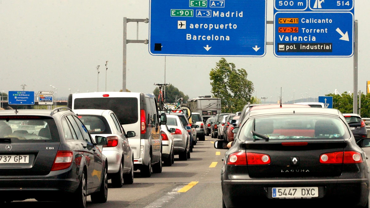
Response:
[[[150,0],[149,53],[262,57],[267,0]]]

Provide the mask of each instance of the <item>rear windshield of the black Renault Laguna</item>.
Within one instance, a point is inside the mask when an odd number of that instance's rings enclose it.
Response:
[[[250,118],[240,131],[240,138],[259,140],[252,130],[270,140],[301,138],[349,138],[346,125],[337,117],[325,115],[273,115]]]

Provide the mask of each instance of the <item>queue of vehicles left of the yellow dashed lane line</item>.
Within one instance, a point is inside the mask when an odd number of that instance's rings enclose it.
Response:
[[[0,111],[0,204],[35,198],[85,208],[88,195],[104,203],[108,180],[120,188],[134,171],[161,173],[204,141],[201,115],[160,112],[153,94],[70,94],[67,106]]]

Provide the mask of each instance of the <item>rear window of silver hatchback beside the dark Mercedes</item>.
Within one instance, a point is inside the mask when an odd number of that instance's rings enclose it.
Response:
[[[101,115],[78,115],[90,134],[111,134],[107,119]]]

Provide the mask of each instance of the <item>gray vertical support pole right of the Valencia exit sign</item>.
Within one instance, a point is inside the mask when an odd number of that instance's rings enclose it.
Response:
[[[357,114],[357,88],[358,88],[358,20],[354,20],[354,47],[353,47],[353,113]]]

